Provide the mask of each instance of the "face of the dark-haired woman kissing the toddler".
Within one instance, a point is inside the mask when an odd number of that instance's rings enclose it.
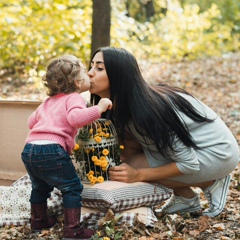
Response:
[[[102,52],[96,53],[91,62],[91,69],[88,72],[90,78],[90,90],[101,98],[110,98],[110,84],[105,69]]]

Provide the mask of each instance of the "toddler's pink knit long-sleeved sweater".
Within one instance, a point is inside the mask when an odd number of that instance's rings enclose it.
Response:
[[[81,128],[100,118],[98,106],[86,107],[78,93],[58,94],[47,98],[28,118],[30,132],[26,143],[50,140],[59,143],[68,153]]]

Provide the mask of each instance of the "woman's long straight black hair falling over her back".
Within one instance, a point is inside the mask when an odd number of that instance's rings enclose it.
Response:
[[[121,140],[132,121],[136,131],[150,138],[162,155],[173,150],[173,138],[177,135],[188,147],[198,149],[188,127],[176,110],[196,122],[212,122],[202,116],[185,98],[178,93],[190,95],[185,90],[165,84],[152,88],[144,79],[135,57],[122,48],[103,47],[104,65],[110,82],[110,99],[113,101],[112,118]],[[190,95],[191,96],[191,95]],[[96,95],[95,104],[99,100]],[[130,131],[130,129],[128,129]]]

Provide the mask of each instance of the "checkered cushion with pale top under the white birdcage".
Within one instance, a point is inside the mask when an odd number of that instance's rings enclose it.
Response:
[[[106,181],[85,184],[82,205],[107,211],[121,211],[141,206],[155,206],[171,196],[172,191],[158,184]]]

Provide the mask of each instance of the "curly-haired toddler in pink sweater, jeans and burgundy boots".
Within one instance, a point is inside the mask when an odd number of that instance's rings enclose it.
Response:
[[[63,55],[47,66],[43,76],[48,98],[29,119],[30,128],[22,161],[32,181],[31,229],[41,231],[56,223],[47,216],[47,199],[53,188],[62,193],[64,208],[63,239],[90,239],[94,231],[80,226],[83,185],[70,158],[78,128],[100,118],[112,102],[103,98],[87,108],[81,92],[90,80],[81,61]]]

